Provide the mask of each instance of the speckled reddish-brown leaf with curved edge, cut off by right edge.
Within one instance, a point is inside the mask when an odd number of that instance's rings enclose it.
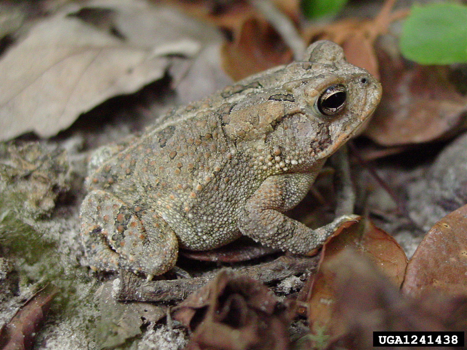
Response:
[[[428,231],[407,265],[403,292],[425,289],[467,295],[467,204]]]

